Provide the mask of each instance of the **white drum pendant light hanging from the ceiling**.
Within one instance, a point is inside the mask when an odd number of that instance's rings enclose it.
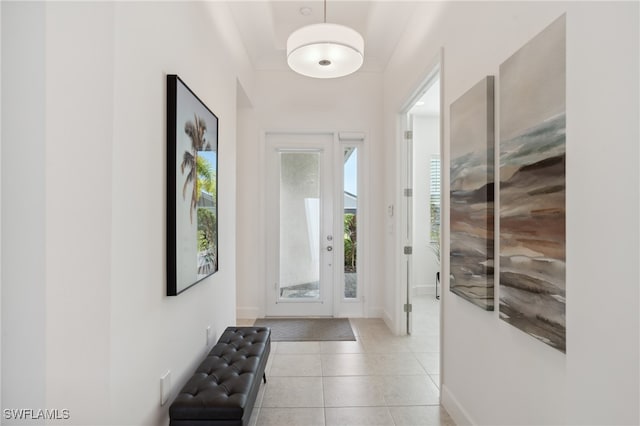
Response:
[[[364,61],[364,39],[352,28],[324,22],[302,27],[287,40],[287,63],[298,74],[336,78],[356,72]]]

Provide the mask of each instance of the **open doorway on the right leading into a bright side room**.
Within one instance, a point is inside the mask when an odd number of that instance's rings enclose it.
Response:
[[[402,111],[401,297],[408,335],[440,359],[442,106],[436,64]],[[404,322],[403,321],[403,322]]]

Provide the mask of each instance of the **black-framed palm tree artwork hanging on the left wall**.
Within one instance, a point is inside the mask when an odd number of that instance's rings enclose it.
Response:
[[[167,75],[167,295],[218,270],[218,117]]]

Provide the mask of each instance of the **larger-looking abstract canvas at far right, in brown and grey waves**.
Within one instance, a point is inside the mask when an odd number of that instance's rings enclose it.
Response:
[[[565,17],[500,66],[500,318],[562,351]]]

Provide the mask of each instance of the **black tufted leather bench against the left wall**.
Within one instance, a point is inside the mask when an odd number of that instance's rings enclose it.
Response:
[[[246,426],[271,351],[266,327],[229,327],[171,407],[171,426]]]

